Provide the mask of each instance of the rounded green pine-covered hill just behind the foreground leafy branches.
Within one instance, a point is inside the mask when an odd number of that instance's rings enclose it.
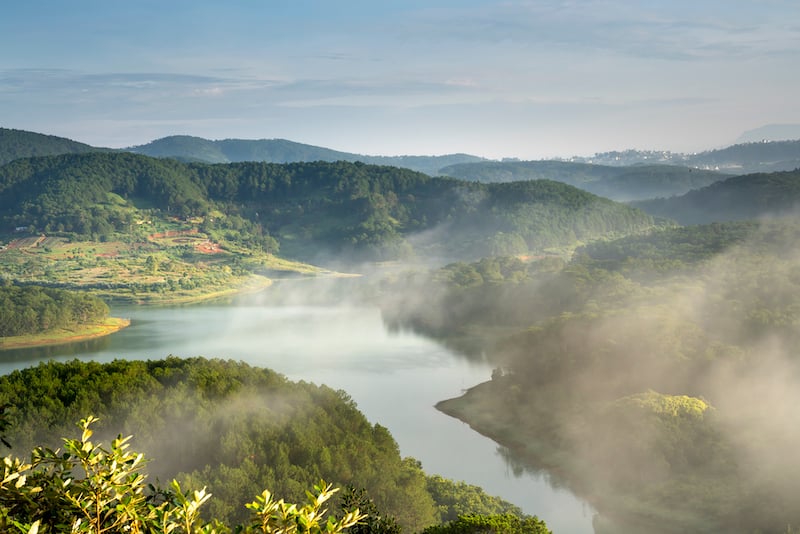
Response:
[[[230,522],[264,487],[303,500],[321,477],[366,488],[407,528],[436,521],[424,473],[385,428],[343,392],[272,371],[197,358],[47,363],[0,377],[0,403],[15,407],[8,438],[21,450],[56,446],[76,414],[96,414],[101,437],[134,434],[151,476],[208,486],[207,513]]]

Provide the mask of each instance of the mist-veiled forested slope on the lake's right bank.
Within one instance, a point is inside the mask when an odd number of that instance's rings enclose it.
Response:
[[[396,275],[384,298],[393,322],[493,359],[453,413],[553,468],[601,518],[785,532],[800,525],[798,242],[796,218],[668,228],[568,262]]]

